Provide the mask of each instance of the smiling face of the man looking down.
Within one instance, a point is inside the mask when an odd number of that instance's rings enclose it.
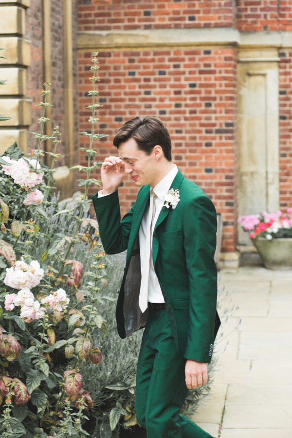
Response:
[[[129,138],[127,142],[119,145],[119,157],[125,164],[125,173],[130,174],[137,187],[146,184],[151,185],[151,187],[156,185],[159,169],[154,149],[150,155],[147,155],[143,150],[138,149],[133,138]]]

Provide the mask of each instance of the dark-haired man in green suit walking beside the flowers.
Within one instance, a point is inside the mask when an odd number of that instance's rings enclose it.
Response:
[[[106,253],[128,250],[116,309],[119,335],[146,327],[137,419],[147,438],[207,438],[180,409],[188,389],[207,383],[220,324],[215,207],[172,163],[169,133],[157,117],[129,120],[113,144],[119,157],[102,164],[103,190],[93,203]],[[141,189],[121,220],[117,188],[125,174]]]

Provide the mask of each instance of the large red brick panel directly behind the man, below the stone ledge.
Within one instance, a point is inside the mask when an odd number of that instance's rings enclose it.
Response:
[[[235,241],[236,65],[233,48],[107,52],[99,55],[99,132],[109,134],[95,144],[98,160],[117,154],[116,130],[137,115],[155,114],[168,128],[173,161],[197,183],[222,213],[223,248]],[[91,53],[79,53],[80,129],[88,130]],[[87,139],[81,141],[86,146]],[[81,164],[85,164],[84,155]],[[98,175],[97,175],[98,177]],[[136,199],[137,188],[125,179],[120,188],[122,213]],[[90,195],[94,194],[94,189]]]

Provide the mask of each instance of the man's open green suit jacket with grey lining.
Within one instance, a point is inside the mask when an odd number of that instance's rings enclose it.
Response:
[[[198,362],[211,360],[220,320],[217,305],[217,269],[214,262],[217,217],[212,201],[178,171],[171,188],[179,189],[176,208],[163,207],[153,233],[153,265],[166,304],[179,354]],[[139,227],[149,185],[121,220],[117,191],[93,204],[105,252],[127,251],[127,261],[116,308],[119,335],[130,336],[145,327],[147,310],[140,311],[141,283]]]

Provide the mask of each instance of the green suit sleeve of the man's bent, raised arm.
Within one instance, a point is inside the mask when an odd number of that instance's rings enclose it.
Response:
[[[92,197],[96,218],[99,225],[99,234],[104,250],[107,254],[117,254],[128,248],[128,239],[131,230],[133,207],[121,220],[118,191],[110,195]]]

